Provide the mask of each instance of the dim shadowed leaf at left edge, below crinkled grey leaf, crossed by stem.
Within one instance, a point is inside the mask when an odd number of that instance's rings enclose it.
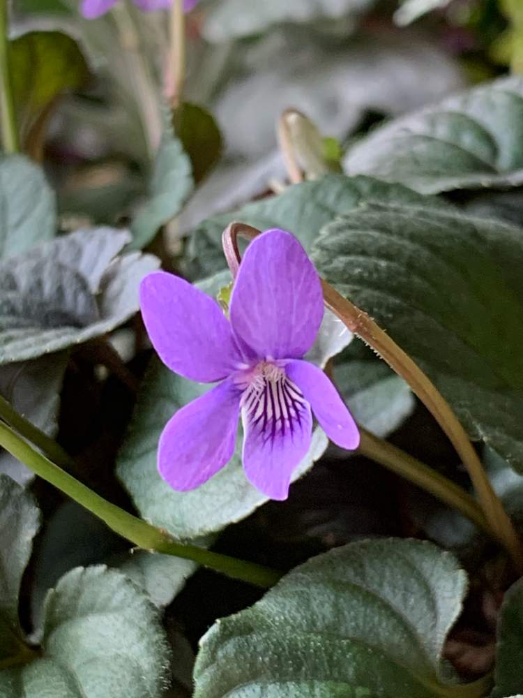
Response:
[[[67,352],[43,356],[34,361],[0,366],[0,395],[31,424],[54,436]],[[0,473],[20,484],[33,480],[34,473],[8,452],[0,449]]]

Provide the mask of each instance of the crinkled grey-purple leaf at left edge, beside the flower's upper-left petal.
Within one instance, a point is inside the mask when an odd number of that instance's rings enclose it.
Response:
[[[0,262],[0,365],[34,359],[110,332],[139,306],[152,255],[119,251],[127,232],[77,230]]]

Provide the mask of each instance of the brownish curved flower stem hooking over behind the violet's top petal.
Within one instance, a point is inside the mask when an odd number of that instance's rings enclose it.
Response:
[[[236,276],[241,256],[238,250],[238,235],[253,239],[259,235],[259,230],[242,223],[231,223],[223,232],[223,247],[232,275]],[[232,260],[234,255],[235,259]],[[402,350],[367,313],[359,309],[347,298],[338,293],[329,283],[321,279],[324,292],[324,302],[328,309],[342,320],[351,332],[357,334],[365,343],[374,349],[387,362],[391,369],[404,378],[412,391],[425,404],[441,429],[444,430],[450,442],[460,455],[467,468],[473,487],[478,496],[478,502],[492,535],[506,548],[518,572],[523,571],[523,547],[512,521],[503,509],[501,500],[492,489],[485,470],[481,465],[478,454],[463,429],[450,405],[441,395],[430,378],[423,373],[417,364]]]

